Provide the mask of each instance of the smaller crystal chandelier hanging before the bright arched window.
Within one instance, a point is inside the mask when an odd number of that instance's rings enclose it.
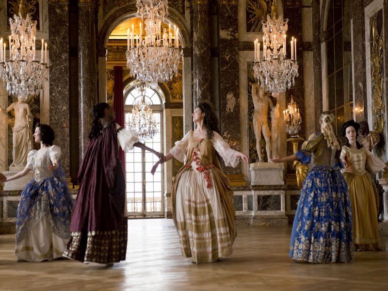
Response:
[[[141,140],[150,140],[159,132],[159,122],[152,116],[151,102],[146,100],[146,84],[137,83],[135,88],[141,93],[139,100],[133,102],[132,120],[126,128],[136,132]]]

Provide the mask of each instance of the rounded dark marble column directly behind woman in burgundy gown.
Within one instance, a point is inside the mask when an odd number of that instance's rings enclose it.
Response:
[[[80,164],[89,143],[88,134],[97,103],[95,0],[78,0],[78,114],[80,127]]]

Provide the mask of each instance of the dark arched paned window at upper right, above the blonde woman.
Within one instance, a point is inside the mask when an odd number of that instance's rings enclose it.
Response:
[[[345,121],[353,118],[352,40],[350,0],[330,0],[326,16],[327,109],[335,116],[340,136]],[[342,142],[344,138],[340,136]]]

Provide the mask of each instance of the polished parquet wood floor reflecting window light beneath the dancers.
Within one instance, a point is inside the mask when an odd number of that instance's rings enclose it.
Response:
[[[180,254],[172,220],[129,220],[127,260],[113,267],[72,260],[16,262],[15,235],[0,235],[0,290],[388,290],[388,236],[382,252],[355,263],[296,264],[291,227],[238,226],[232,256],[193,264]]]

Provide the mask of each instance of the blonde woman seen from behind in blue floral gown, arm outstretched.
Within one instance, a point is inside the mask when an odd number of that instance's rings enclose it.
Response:
[[[306,164],[313,157],[292,226],[290,257],[295,262],[354,261],[352,204],[340,170],[341,142],[333,133],[333,121],[332,113],[323,112],[321,132],[311,134],[294,155],[271,160]]]

